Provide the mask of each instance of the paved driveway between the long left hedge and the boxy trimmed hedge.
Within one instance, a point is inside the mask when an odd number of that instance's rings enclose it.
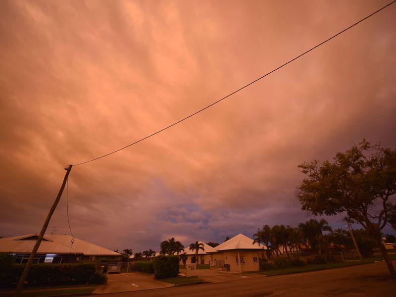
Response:
[[[154,280],[154,275],[130,272],[107,275],[107,284],[100,285],[93,293],[107,294],[173,287],[174,285]]]

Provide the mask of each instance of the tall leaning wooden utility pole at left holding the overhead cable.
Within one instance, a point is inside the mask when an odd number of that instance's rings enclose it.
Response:
[[[46,230],[47,230],[47,227],[48,227],[48,224],[49,224],[49,220],[51,219],[51,216],[52,216],[53,212],[55,211],[56,206],[58,205],[60,197],[62,196],[63,189],[65,188],[66,181],[67,181],[67,178],[69,177],[69,173],[70,173],[70,170],[71,170],[72,166],[73,165],[68,165],[68,166],[65,167],[66,174],[65,174],[65,177],[63,179],[63,183],[60,186],[58,195],[56,196],[55,201],[52,204],[52,207],[49,209],[49,213],[48,213],[47,218],[46,218],[46,220],[44,222],[43,228],[41,228],[39,238],[37,239],[36,244],[33,247],[32,253],[29,256],[29,259],[28,259],[28,261],[27,261],[27,263],[25,265],[25,268],[23,269],[21,278],[19,279],[18,286],[16,287],[16,289],[14,291],[14,296],[19,296],[20,293],[21,293],[21,289],[22,289],[23,283],[25,282],[25,279],[26,279],[26,277],[27,277],[27,275],[29,273],[30,266],[32,266],[33,259],[34,259],[35,255],[36,255],[37,250],[40,247],[40,244],[41,244],[41,241],[43,240],[44,234],[46,233]]]

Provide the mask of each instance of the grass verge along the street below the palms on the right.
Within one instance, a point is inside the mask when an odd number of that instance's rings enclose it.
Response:
[[[391,260],[396,259],[396,255],[389,255]],[[308,264],[301,267],[291,267],[291,268],[282,268],[282,269],[271,269],[271,270],[264,270],[261,271],[261,274],[264,275],[280,275],[280,274],[290,274],[290,273],[300,273],[300,272],[309,272],[315,270],[323,270],[323,269],[330,269],[330,268],[339,268],[339,267],[347,267],[353,265],[361,265],[361,264],[368,264],[374,263],[374,261],[382,261],[383,258],[381,256],[371,257],[371,258],[363,258],[362,261],[347,261],[347,262],[335,262],[335,263],[327,263],[327,264]]]

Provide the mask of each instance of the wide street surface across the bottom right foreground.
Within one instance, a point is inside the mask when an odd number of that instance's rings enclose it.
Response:
[[[394,261],[396,265],[396,261]],[[115,297],[396,296],[384,262],[223,283],[109,294]]]

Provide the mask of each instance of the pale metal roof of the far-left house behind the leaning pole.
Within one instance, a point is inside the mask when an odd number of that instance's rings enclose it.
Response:
[[[31,253],[36,243],[38,234],[29,234],[25,236],[15,236],[0,239],[0,252],[11,253]],[[54,254],[84,254],[84,255],[102,255],[117,256],[120,253],[112,251],[105,247],[86,242],[82,239],[70,235],[44,235],[43,241],[37,253],[54,253]]]

